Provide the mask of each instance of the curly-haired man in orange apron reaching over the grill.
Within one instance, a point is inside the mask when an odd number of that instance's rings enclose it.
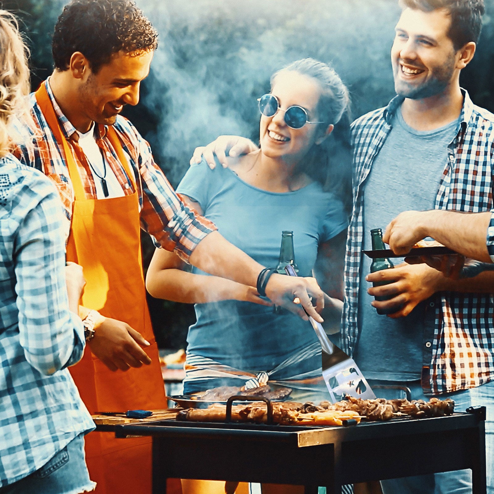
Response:
[[[119,116],[125,104],[139,101],[156,47],[156,31],[131,0],[67,5],[53,36],[55,70],[32,97],[34,146],[16,153],[58,186],[68,219],[67,260],[83,267],[80,314],[88,345],[71,373],[91,413],[166,407],[140,228],[157,246],[217,276],[256,286],[263,268],[181,203],[148,143]],[[301,312],[292,302],[298,297],[322,321],[309,300],[322,308],[313,279],[274,274],[264,285],[276,304]],[[149,438],[90,433],[86,460],[99,494],[151,492]]]

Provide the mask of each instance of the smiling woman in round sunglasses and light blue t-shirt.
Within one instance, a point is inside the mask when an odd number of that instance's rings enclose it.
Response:
[[[298,275],[311,276],[316,267],[321,287],[342,298],[347,214],[338,196],[351,197],[341,179],[351,165],[348,143],[331,147],[329,136],[343,115],[339,131],[346,136],[348,91],[331,67],[303,59],[276,72],[271,92],[258,102],[260,149],[229,159],[227,168],[192,165],[177,192],[265,266],[276,267],[282,231],[293,231]],[[196,304],[185,394],[268,383],[292,388],[291,400],[328,398],[321,346],[308,321],[275,313],[253,288],[183,269],[176,255],[157,249],[146,286],[155,297]],[[338,303],[327,299],[328,305]],[[224,493],[225,484],[218,484],[217,492]],[[186,494],[216,492],[198,481],[182,485]]]

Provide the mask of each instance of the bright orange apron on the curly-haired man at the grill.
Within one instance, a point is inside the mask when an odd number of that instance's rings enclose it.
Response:
[[[149,366],[110,371],[86,346],[81,362],[70,371],[90,413],[166,408],[158,347],[146,305],[142,272],[137,192],[113,199],[86,199],[69,143],[63,135],[44,84],[36,92],[41,111],[63,146],[75,192],[67,260],[81,264],[86,285],[82,305],[124,321],[139,331],[151,346],[144,350]],[[112,143],[127,175],[133,173],[122,145],[108,128]],[[137,188],[134,184],[134,190]],[[86,462],[98,494],[151,493],[151,439],[115,439],[110,432],[85,437]]]

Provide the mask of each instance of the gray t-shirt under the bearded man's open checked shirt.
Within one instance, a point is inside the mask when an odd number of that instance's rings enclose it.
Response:
[[[458,121],[444,127],[418,131],[403,120],[398,109],[393,128],[372,164],[364,189],[364,249],[371,249],[371,229],[381,228],[402,211],[433,209],[448,158],[448,145]],[[395,266],[403,258],[392,259]],[[407,317],[380,316],[367,293],[371,259],[362,254],[357,365],[369,379],[420,378],[425,301]]]

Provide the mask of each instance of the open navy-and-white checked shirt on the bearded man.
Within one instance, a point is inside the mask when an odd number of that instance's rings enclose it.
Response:
[[[448,160],[435,208],[489,211],[494,206],[494,115],[475,106],[466,91],[463,94],[460,124],[448,146]],[[354,205],[346,248],[342,328],[342,348],[350,355],[359,339],[357,309],[365,180],[402,102],[403,98],[396,96],[386,108],[370,112],[352,124]],[[439,292],[428,300],[422,347],[422,387],[425,393],[467,389],[493,379],[493,317],[493,294]]]

